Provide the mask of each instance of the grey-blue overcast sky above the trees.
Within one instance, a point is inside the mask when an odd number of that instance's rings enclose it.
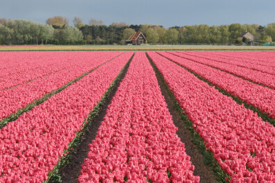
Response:
[[[28,19],[45,23],[55,15],[72,24],[81,17],[106,25],[159,24],[166,28],[194,24],[260,24],[275,22],[275,0],[0,0],[0,18]]]

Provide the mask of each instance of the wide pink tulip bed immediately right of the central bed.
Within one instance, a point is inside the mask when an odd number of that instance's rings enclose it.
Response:
[[[275,182],[275,128],[166,58],[147,52],[231,182]]]

